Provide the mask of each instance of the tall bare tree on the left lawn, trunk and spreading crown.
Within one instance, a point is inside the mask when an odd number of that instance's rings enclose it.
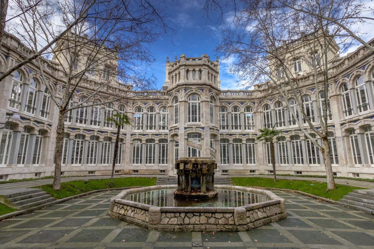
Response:
[[[25,1],[27,3],[25,4]],[[18,0],[22,11],[30,1]],[[164,23],[162,4],[147,0],[85,1],[43,0],[20,16],[19,25],[11,28],[33,50],[43,84],[53,93],[54,87],[46,68],[58,68],[62,93],[52,94],[59,108],[56,129],[55,175],[53,188],[61,186],[61,159],[64,121],[68,112],[77,108],[108,105],[132,98],[133,89],[151,89],[154,77],[141,73],[139,65],[153,61],[148,44],[172,30]],[[56,13],[61,23],[56,25]],[[168,33],[170,34],[170,33]],[[47,43],[43,46],[43,43]],[[52,49],[49,49],[53,45]],[[42,47],[42,49],[39,49]],[[52,60],[44,59],[46,55]],[[13,67],[14,68],[14,67]],[[13,70],[13,69],[11,69]],[[8,72],[9,74],[9,72]],[[86,98],[73,104],[76,90],[91,89]],[[97,101],[100,98],[102,101]],[[96,115],[97,113],[93,113]],[[84,115],[77,111],[77,115]],[[79,117],[80,118],[80,117]]]

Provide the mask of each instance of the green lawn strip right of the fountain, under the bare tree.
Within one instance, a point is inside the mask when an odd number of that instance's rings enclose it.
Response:
[[[354,189],[363,189],[359,187],[351,187],[346,185],[336,185],[336,189],[326,191],[327,183],[316,181],[301,181],[301,180],[281,180],[277,179],[274,182],[273,178],[261,177],[232,177],[234,185],[238,186],[253,186],[253,187],[267,187],[267,188],[285,188],[289,190],[299,190],[316,196],[325,197],[331,200],[339,200],[343,196],[352,192]]]

